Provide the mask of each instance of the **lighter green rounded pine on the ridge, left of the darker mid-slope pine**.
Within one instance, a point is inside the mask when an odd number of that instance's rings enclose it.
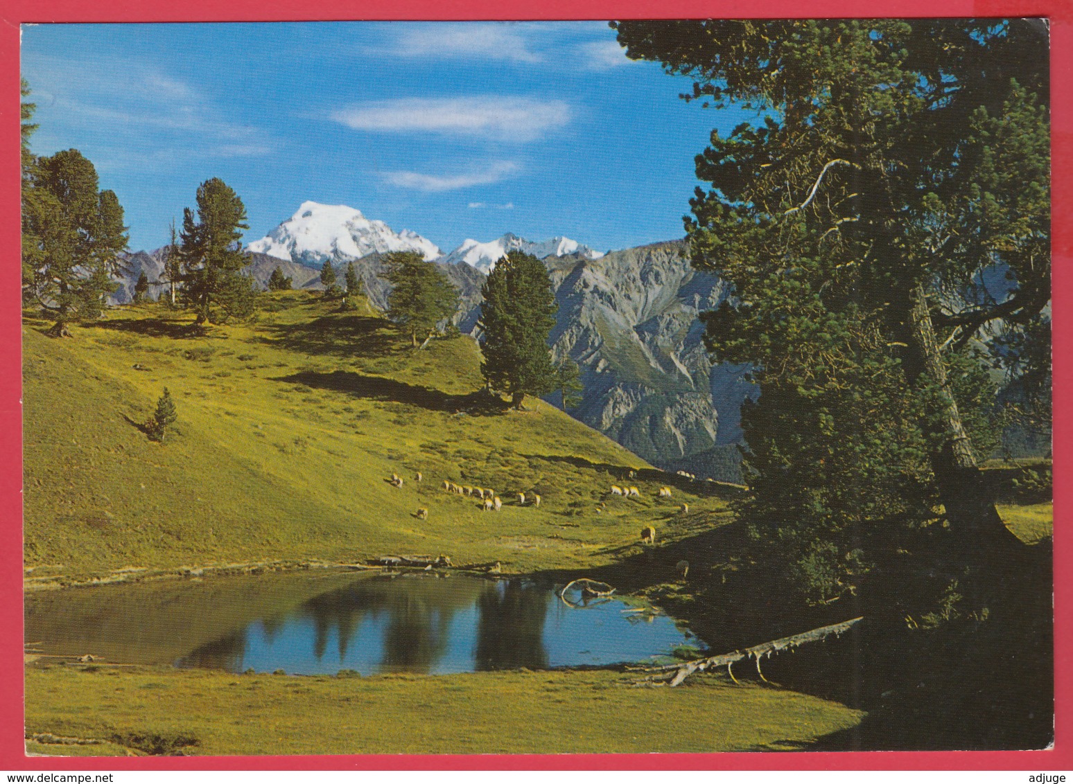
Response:
[[[458,306],[458,292],[451,281],[420,253],[388,253],[385,277],[392,284],[387,317],[409,332],[413,346],[424,349],[440,322]],[[417,342],[417,336],[423,342]]]

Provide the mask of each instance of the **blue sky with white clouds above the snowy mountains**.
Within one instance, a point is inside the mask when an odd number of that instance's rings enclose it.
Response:
[[[598,250],[682,235],[693,157],[746,119],[628,60],[605,23],[23,28],[32,149],[75,147],[152,249],[199,183],[246,241],[302,202],[347,204],[447,252],[514,232]]]

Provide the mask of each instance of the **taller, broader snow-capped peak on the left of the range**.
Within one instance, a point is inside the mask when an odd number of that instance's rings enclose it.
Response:
[[[416,251],[426,261],[443,255],[435,243],[408,228],[393,231],[383,221],[370,221],[347,205],[303,202],[288,220],[249,250],[308,266],[361,258],[370,253]]]

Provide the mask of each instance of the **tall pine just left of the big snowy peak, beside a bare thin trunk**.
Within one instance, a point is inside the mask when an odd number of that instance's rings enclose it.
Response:
[[[246,207],[242,199],[214,177],[197,188],[197,211],[182,211],[179,257],[183,304],[196,323],[244,319],[256,307],[253,279],[244,275],[249,260],[242,252]]]

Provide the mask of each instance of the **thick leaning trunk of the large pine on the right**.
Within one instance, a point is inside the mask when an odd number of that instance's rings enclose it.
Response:
[[[1019,544],[999,517],[994,491],[987,487],[976,463],[972,442],[950,388],[946,364],[936,341],[923,286],[916,286],[909,295],[905,327],[903,367],[909,382],[915,383],[924,376],[938,387],[938,410],[934,413],[941,423],[942,432],[938,435],[942,445],[931,456],[931,465],[953,532],[958,539],[982,549],[990,549],[988,545]]]

